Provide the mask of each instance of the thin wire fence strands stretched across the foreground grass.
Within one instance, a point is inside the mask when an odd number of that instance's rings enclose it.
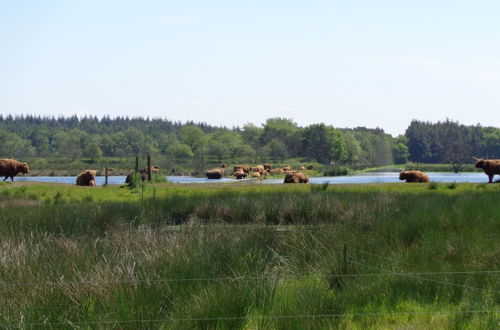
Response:
[[[365,256],[374,257],[378,260],[384,260],[390,264],[413,266],[410,263],[391,260],[390,258],[381,257],[371,252],[360,250],[350,247],[350,250],[356,251]],[[476,291],[492,292],[500,294],[500,291],[493,288],[481,288],[467,284],[456,283],[448,280],[432,279],[423,276],[498,276],[500,270],[460,270],[460,271],[435,271],[435,272],[390,272],[384,270],[380,266],[370,265],[358,256],[351,253],[345,255],[347,263],[352,268],[352,265],[358,265],[370,269],[376,269],[377,272],[372,273],[340,273],[340,274],[306,274],[306,275],[241,275],[241,276],[228,276],[228,277],[193,277],[193,278],[147,278],[147,279],[116,279],[111,281],[96,281],[93,280],[78,280],[78,281],[47,281],[47,282],[6,282],[0,281],[1,287],[34,287],[34,286],[65,286],[65,285],[99,285],[99,284],[153,284],[153,283],[169,283],[169,282],[223,282],[223,281],[263,281],[263,280],[286,280],[286,279],[300,279],[300,278],[369,278],[369,277],[405,277],[424,282],[432,282],[448,286],[460,287],[463,289],[472,289]],[[382,270],[382,272],[380,272]],[[223,316],[223,317],[207,317],[207,318],[165,318],[165,319],[137,319],[137,320],[96,320],[96,321],[71,321],[64,320],[60,322],[17,322],[17,323],[1,323],[0,327],[47,327],[47,326],[62,326],[62,325],[119,325],[119,324],[149,324],[149,323],[167,323],[167,322],[202,322],[202,321],[230,321],[230,320],[266,320],[266,319],[320,319],[320,318],[353,318],[353,317],[379,317],[379,316],[405,316],[405,315],[434,315],[434,314],[476,314],[480,316],[498,314],[500,310],[455,310],[455,311],[404,311],[404,312],[384,312],[384,313],[340,313],[340,314],[304,314],[304,315],[244,315],[244,316]]]

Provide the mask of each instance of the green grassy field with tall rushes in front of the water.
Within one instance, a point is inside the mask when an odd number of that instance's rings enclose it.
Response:
[[[497,328],[499,204],[498,184],[2,184],[0,327]]]

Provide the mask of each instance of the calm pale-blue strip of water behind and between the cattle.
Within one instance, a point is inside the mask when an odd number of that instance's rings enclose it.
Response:
[[[488,177],[484,173],[428,173],[431,181],[434,182],[488,182]],[[498,178],[498,177],[496,177]],[[237,182],[242,180],[235,180],[233,178],[223,178],[221,180],[209,180],[205,178],[194,178],[189,176],[167,176],[169,182],[173,183],[213,183],[213,182]],[[76,177],[74,176],[18,176],[14,178],[15,181],[39,181],[39,182],[57,182],[75,184]],[[265,179],[265,180],[251,180],[256,183],[283,183],[283,179]],[[399,180],[399,173],[386,172],[386,173],[362,173],[356,175],[346,176],[333,176],[333,177],[311,177],[311,183],[387,183],[387,182],[403,182]],[[124,176],[110,176],[108,177],[109,184],[123,184],[125,182]],[[104,184],[104,177],[98,176],[96,184]]]

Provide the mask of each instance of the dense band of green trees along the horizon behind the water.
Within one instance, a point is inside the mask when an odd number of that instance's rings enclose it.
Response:
[[[0,157],[130,157],[162,155],[175,162],[279,161],[383,166],[470,163],[472,156],[500,158],[500,129],[457,122],[414,120],[405,135],[383,129],[298,126],[292,119],[215,127],[205,123],[128,117],[41,117],[0,115]]]

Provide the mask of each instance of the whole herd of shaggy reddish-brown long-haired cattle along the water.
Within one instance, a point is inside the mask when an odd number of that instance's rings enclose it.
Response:
[[[495,175],[500,175],[500,159],[479,159],[474,158],[476,168],[483,169],[484,173],[488,176],[488,182],[493,182]],[[214,168],[206,171],[205,176],[208,179],[221,179],[224,177],[224,171],[227,169],[226,164],[222,164],[220,168]],[[312,170],[313,166],[301,166],[299,170]],[[158,173],[158,166],[151,166],[151,173]],[[28,164],[18,162],[14,159],[0,159],[0,176],[5,176],[14,181],[14,177],[19,174],[27,174],[29,172]],[[95,186],[96,170],[85,170],[76,177],[76,184],[79,186]],[[148,169],[139,170],[141,179],[147,179]],[[254,179],[263,178],[269,174],[284,174],[284,183],[308,183],[309,177],[303,172],[294,171],[290,166],[273,169],[271,164],[263,164],[252,167],[250,165],[236,165],[233,168],[233,175],[236,179],[244,179],[248,176]],[[126,183],[132,181],[132,174],[129,174],[125,179]],[[406,182],[429,182],[429,176],[420,171],[403,171],[399,173],[399,179]]]

